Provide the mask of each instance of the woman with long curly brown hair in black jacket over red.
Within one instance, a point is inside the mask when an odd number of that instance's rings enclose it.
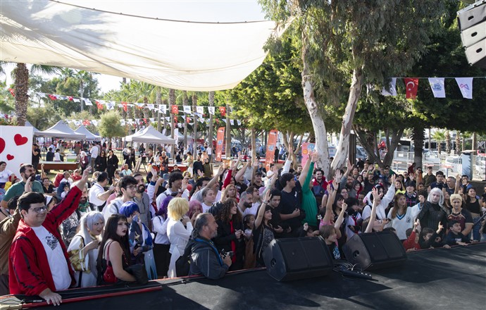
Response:
[[[230,271],[243,268],[244,257],[244,229],[242,214],[238,210],[235,199],[228,199],[223,203],[218,215],[218,236],[213,238],[219,252],[232,252],[232,265]]]

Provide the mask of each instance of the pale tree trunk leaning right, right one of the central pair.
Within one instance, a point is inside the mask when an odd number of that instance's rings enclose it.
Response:
[[[358,105],[359,97],[361,96],[361,87],[363,86],[363,70],[362,68],[355,68],[353,70],[353,80],[349,88],[349,98],[346,105],[346,111],[342,117],[341,133],[339,134],[339,143],[336,147],[336,156],[331,163],[332,171],[340,169],[346,163],[348,157],[349,135],[353,125],[354,113]]]

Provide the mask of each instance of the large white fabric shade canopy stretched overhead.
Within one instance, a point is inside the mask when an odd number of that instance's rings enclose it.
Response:
[[[160,20],[75,2],[80,6],[48,0],[2,1],[1,60],[208,92],[235,87],[261,65],[267,39],[280,35],[272,21]],[[114,12],[117,3],[113,1]]]

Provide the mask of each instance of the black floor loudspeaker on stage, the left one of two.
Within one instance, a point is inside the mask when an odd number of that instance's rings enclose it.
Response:
[[[263,252],[272,278],[279,281],[321,277],[332,271],[332,257],[321,237],[275,239]]]

